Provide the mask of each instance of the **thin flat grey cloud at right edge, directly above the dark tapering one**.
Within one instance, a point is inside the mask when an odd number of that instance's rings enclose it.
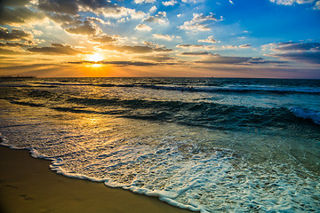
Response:
[[[320,51],[320,43],[276,43],[275,51]]]

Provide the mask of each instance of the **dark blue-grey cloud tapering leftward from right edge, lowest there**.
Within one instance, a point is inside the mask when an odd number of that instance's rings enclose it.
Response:
[[[282,54],[271,54],[271,56],[284,60],[320,64],[320,51],[295,51]]]

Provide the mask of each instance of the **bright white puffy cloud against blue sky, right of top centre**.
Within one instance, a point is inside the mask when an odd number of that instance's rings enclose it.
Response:
[[[192,20],[184,22],[183,25],[178,28],[190,32],[209,31],[211,28],[208,27],[208,23],[211,23],[212,21],[218,21],[212,12],[207,16],[203,13],[194,13]]]

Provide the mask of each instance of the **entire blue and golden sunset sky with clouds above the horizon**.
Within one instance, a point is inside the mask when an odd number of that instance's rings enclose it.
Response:
[[[320,79],[320,0],[2,0],[4,75]]]

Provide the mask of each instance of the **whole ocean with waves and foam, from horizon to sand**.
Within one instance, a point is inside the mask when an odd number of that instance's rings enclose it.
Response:
[[[320,80],[3,78],[3,146],[207,212],[320,212]]]

